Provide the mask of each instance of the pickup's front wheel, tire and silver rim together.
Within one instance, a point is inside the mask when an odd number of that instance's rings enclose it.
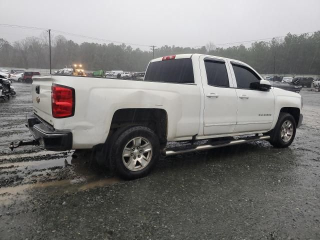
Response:
[[[294,139],[295,131],[294,117],[289,113],[280,112],[269,141],[275,147],[288,147]]]

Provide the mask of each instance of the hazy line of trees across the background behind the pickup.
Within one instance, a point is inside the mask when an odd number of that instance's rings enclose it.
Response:
[[[62,35],[53,37],[51,42],[53,69],[82,63],[88,70],[144,71],[152,58],[152,51],[133,49],[125,44],[78,44]],[[320,31],[300,35],[288,33],[283,39],[255,41],[248,47],[243,44],[218,47],[212,42],[197,48],[164,45],[155,50],[154,57],[180,53],[233,58],[248,63],[260,73],[273,73],[274,70],[275,73],[285,74],[320,74]],[[48,54],[48,39],[45,36],[26,37],[14,43],[0,38],[0,66],[48,68]]]

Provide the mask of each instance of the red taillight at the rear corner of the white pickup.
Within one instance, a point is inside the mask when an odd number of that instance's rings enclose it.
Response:
[[[51,108],[52,116],[62,118],[74,115],[75,94],[74,89],[68,86],[52,84]]]

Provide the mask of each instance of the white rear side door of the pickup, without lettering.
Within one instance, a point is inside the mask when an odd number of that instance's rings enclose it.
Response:
[[[236,123],[236,92],[230,69],[221,58],[200,56],[204,93],[203,134],[232,133]]]

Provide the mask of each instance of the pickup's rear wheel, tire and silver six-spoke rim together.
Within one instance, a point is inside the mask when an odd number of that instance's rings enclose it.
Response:
[[[147,175],[160,153],[157,135],[149,127],[137,125],[115,132],[110,148],[110,161],[116,172],[125,179]]]

